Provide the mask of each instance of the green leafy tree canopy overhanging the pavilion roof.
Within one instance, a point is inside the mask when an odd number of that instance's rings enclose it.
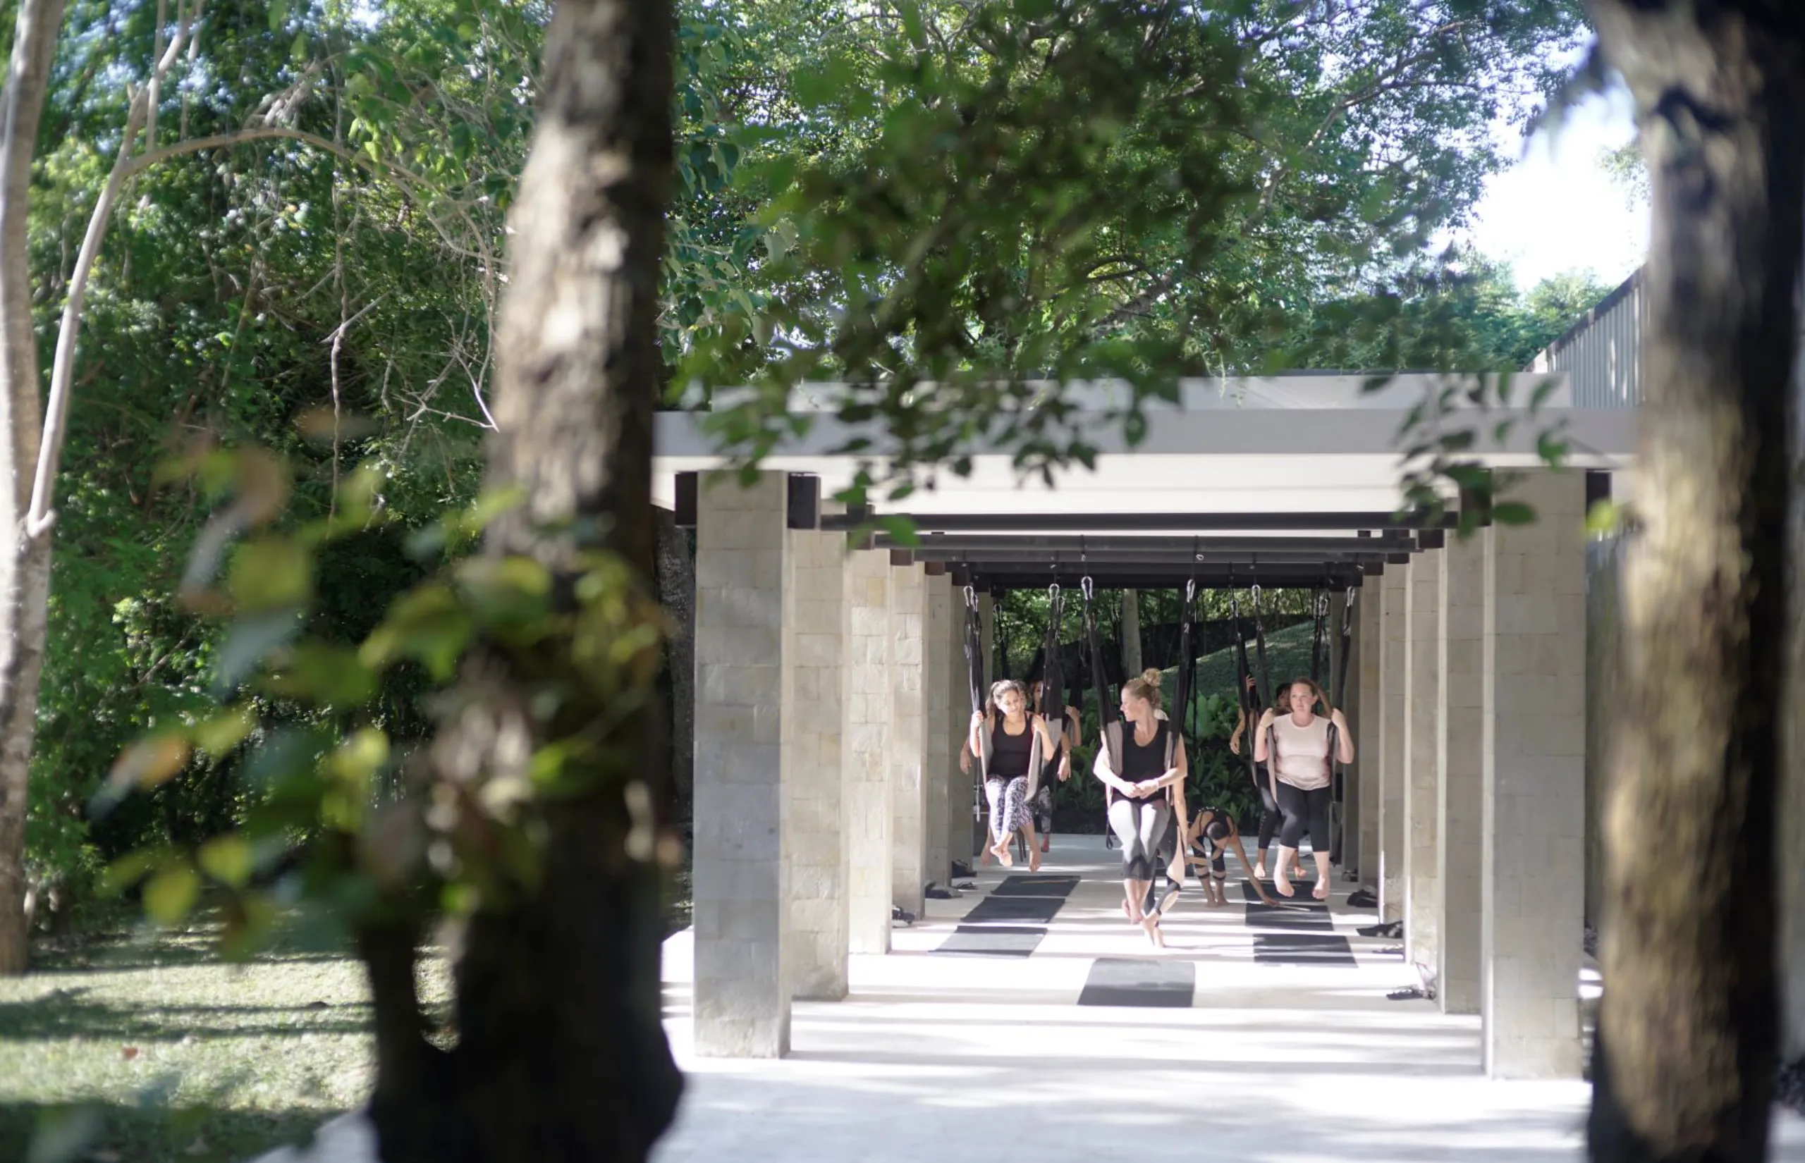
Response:
[[[1502,162],[1486,126],[1529,115],[1579,27],[1570,4],[1464,0],[749,11],[807,25],[738,108],[767,258],[680,373],[753,384],[711,420],[749,463],[805,426],[794,384],[838,380],[810,388],[838,447],[890,454],[850,501],[964,471],[978,440],[1088,463],[1058,384],[1126,380],[1137,440],[1180,375],[1310,359],[1285,341],[1305,305],[1386,307]]]

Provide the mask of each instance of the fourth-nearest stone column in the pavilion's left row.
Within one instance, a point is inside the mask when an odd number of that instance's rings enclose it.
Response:
[[[890,566],[890,900],[921,916],[928,880],[928,575]]]

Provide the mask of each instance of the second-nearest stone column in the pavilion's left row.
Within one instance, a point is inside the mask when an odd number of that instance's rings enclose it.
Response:
[[[791,988],[847,995],[847,831],[841,790],[847,539],[791,530],[783,591],[783,783],[789,786]]]

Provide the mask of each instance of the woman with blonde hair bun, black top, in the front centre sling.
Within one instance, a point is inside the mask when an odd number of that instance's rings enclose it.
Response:
[[[1155,948],[1159,909],[1146,909],[1159,864],[1159,844],[1171,826],[1171,788],[1184,783],[1184,741],[1157,718],[1159,673],[1123,683],[1123,721],[1103,728],[1092,768],[1106,788],[1110,829],[1123,846],[1123,894],[1128,920],[1146,930]]]

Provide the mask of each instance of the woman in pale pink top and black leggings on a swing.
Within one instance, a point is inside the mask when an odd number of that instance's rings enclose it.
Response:
[[[1305,824],[1310,829],[1310,851],[1316,856],[1316,900],[1328,900],[1328,804],[1334,801],[1334,748],[1341,763],[1354,763],[1354,734],[1339,710],[1328,718],[1316,707],[1328,707],[1323,689],[1309,678],[1292,680],[1278,692],[1278,707],[1260,716],[1253,757],[1265,761],[1273,779],[1273,795],[1285,813],[1285,828],[1278,835],[1278,865],[1273,869],[1273,887],[1280,896],[1296,896],[1287,869],[1298,855]],[[1276,714],[1274,714],[1276,712]]]

